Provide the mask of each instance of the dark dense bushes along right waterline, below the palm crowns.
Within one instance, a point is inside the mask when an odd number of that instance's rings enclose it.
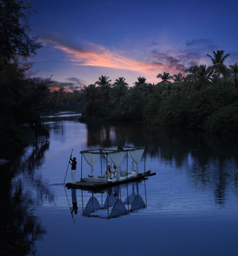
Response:
[[[113,101],[109,108],[102,102],[89,102],[80,122],[145,122],[164,127],[203,129],[212,134],[238,135],[238,91],[230,84],[202,90],[199,94],[154,94],[146,100],[142,92]]]

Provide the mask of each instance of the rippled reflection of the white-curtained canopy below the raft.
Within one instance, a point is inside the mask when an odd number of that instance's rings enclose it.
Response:
[[[134,181],[129,184],[108,188],[99,193],[82,190],[82,215],[85,217],[109,219],[121,217],[130,212],[146,208],[146,186],[145,184],[140,186],[144,188],[143,196],[141,196],[139,193],[139,183],[142,185],[142,181]],[[83,206],[83,193],[92,194],[85,207]]]

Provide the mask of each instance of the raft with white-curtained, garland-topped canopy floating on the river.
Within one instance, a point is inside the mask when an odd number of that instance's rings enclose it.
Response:
[[[104,149],[92,149],[81,151],[81,178],[80,181],[76,181],[76,172],[71,174],[71,183],[65,184],[66,187],[79,187],[82,189],[100,189],[103,187],[114,186],[121,183],[127,183],[134,180],[146,178],[156,173],[151,173],[151,170],[140,173],[138,164],[142,159],[145,147],[107,147]],[[98,156],[101,158],[101,175],[95,177],[93,165],[95,165]],[[102,174],[102,158],[106,158],[107,166],[108,163],[115,166],[115,172],[106,172]],[[121,164],[126,157],[127,167],[126,170],[121,170]],[[87,174],[87,177],[83,177],[83,158],[87,164],[91,166],[91,173]],[[131,159],[131,171],[128,169],[128,158]],[[136,169],[134,168],[136,163]],[[112,168],[111,168],[112,169]]]

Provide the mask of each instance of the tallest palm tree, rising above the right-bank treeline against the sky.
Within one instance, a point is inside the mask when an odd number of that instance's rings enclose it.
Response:
[[[217,50],[217,53],[213,51],[213,57],[209,54],[206,54],[206,56],[208,56],[212,60],[213,65],[211,67],[214,74],[218,75],[219,81],[220,81],[220,75],[223,75],[224,77],[226,77],[228,73],[227,67],[223,63],[230,54],[224,55],[224,52],[225,51],[223,50],[221,51]]]

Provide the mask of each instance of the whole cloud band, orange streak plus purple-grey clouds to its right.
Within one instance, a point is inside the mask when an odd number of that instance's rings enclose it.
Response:
[[[131,52],[110,50],[92,42],[73,44],[64,36],[54,34],[41,35],[44,44],[52,45],[67,55],[67,61],[79,66],[105,67],[117,70],[127,70],[137,76],[145,76],[148,82],[157,82],[158,73],[169,72],[185,74],[185,70],[194,65],[209,64],[207,53],[217,49],[211,39],[191,39],[180,42],[180,45],[162,45],[155,41],[143,44],[142,51],[134,49]],[[116,72],[114,72],[116,73]],[[75,78],[74,78],[75,79]],[[68,78],[65,87],[80,87],[83,82]],[[158,81],[159,82],[159,81]],[[55,86],[58,84],[55,84]]]

